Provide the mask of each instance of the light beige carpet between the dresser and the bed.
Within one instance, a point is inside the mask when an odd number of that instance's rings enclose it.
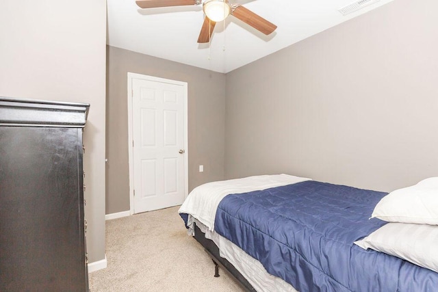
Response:
[[[187,235],[179,207],[106,222],[107,268],[89,274],[97,291],[244,291]]]

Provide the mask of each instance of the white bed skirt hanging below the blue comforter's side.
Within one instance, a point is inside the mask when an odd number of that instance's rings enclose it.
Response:
[[[220,256],[226,258],[227,261],[229,261],[237,271],[248,280],[256,291],[298,292],[291,284],[285,282],[285,280],[269,274],[259,261],[248,255],[237,245],[225,237],[218,235],[218,233],[209,230],[207,226],[198,220],[194,219],[193,222],[195,222],[196,226],[205,233],[207,239],[211,239],[216,243],[220,251]]]

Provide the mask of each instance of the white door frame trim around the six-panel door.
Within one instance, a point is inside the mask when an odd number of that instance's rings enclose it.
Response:
[[[133,120],[132,120],[132,97],[133,97],[133,88],[132,88],[132,79],[142,79],[147,81],[155,81],[155,82],[163,82],[170,83],[175,85],[183,86],[183,102],[184,102],[184,198],[187,198],[189,191],[189,165],[188,165],[188,157],[189,157],[189,148],[188,148],[188,83],[183,81],[176,81],[171,79],[164,79],[159,77],[153,77],[149,75],[142,75],[138,73],[128,72],[128,155],[129,155],[129,213],[133,215],[134,213],[134,163],[133,163]]]

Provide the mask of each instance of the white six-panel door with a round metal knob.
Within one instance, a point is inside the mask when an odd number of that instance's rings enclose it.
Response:
[[[182,204],[187,83],[134,77],[131,89],[133,213]]]

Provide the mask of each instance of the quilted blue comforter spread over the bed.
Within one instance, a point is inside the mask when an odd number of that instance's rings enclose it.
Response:
[[[385,193],[306,181],[219,204],[215,230],[298,291],[438,291],[438,274],[354,241]]]

